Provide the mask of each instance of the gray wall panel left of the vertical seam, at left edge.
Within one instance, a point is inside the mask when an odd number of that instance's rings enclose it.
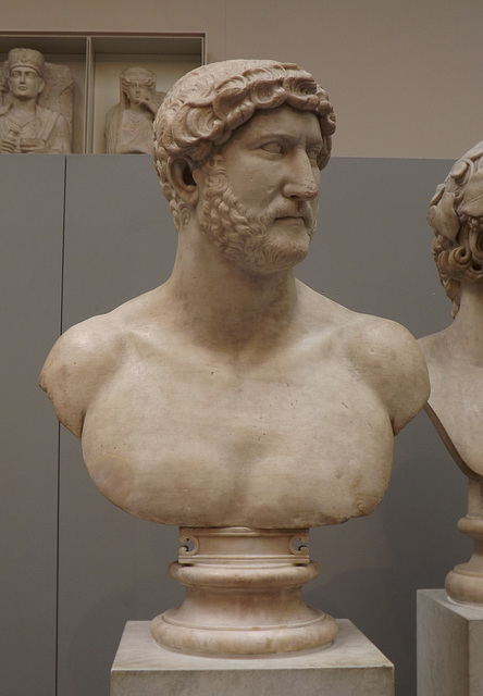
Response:
[[[60,332],[65,158],[1,158],[0,693],[55,688],[58,432],[38,374]]]

